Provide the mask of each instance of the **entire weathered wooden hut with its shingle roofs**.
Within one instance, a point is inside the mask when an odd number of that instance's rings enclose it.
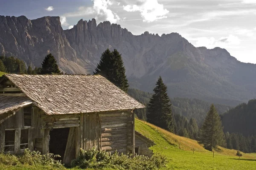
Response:
[[[144,108],[100,75],[0,78],[0,151],[24,148],[75,159],[80,148],[135,153],[134,108]]]

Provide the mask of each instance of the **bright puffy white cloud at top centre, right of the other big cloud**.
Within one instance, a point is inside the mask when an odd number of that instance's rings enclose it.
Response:
[[[140,0],[140,5],[127,5],[123,9],[128,12],[140,11],[144,22],[153,22],[167,17],[169,11],[157,0]]]

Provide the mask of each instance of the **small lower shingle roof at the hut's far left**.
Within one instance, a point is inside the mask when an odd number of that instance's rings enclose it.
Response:
[[[15,111],[26,105],[32,104],[32,100],[22,96],[0,96],[0,114]]]

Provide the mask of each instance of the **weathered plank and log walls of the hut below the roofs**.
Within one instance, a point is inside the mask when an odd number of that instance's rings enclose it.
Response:
[[[133,153],[135,149],[134,113],[129,111],[45,115],[38,107],[20,109],[0,116],[0,146],[4,144],[6,129],[15,130],[15,150],[20,152],[21,129],[28,129],[30,150],[49,153],[50,130],[70,127],[63,161],[69,163],[78,156],[80,148],[119,153]],[[25,126],[26,125],[26,126]],[[71,156],[72,155],[72,156]]]

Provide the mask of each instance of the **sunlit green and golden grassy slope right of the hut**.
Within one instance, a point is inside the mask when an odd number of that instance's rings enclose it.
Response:
[[[245,154],[239,161],[236,150],[221,148],[222,152],[205,150],[197,141],[177,136],[147,122],[136,120],[135,129],[156,145],[151,147],[154,153],[165,154],[171,160],[166,169],[175,170],[252,170],[256,169],[256,154]],[[180,149],[179,149],[180,146]],[[195,150],[193,154],[193,148]]]

